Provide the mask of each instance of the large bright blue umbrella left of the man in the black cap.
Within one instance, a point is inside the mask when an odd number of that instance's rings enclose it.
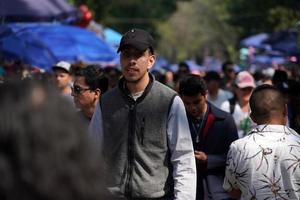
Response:
[[[117,64],[118,55],[94,33],[61,24],[7,24],[0,26],[0,56],[51,69],[71,63]]]

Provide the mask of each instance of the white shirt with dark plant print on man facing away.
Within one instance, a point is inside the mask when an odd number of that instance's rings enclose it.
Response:
[[[300,135],[283,125],[259,125],[231,144],[224,189],[243,199],[300,199]]]

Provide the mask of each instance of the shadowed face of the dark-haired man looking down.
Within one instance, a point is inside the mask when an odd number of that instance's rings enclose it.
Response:
[[[206,96],[198,94],[195,96],[182,95],[181,99],[184,103],[187,113],[194,118],[202,118],[206,112]]]

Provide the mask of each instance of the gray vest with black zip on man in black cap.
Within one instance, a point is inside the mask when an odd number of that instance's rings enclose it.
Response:
[[[173,196],[167,120],[176,93],[151,80],[136,101],[124,80],[101,97],[106,181],[116,196]]]

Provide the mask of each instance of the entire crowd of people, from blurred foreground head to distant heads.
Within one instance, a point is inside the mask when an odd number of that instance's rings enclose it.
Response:
[[[142,29],[117,51],[120,68],[2,63],[1,199],[300,199],[294,68],[160,73]]]

